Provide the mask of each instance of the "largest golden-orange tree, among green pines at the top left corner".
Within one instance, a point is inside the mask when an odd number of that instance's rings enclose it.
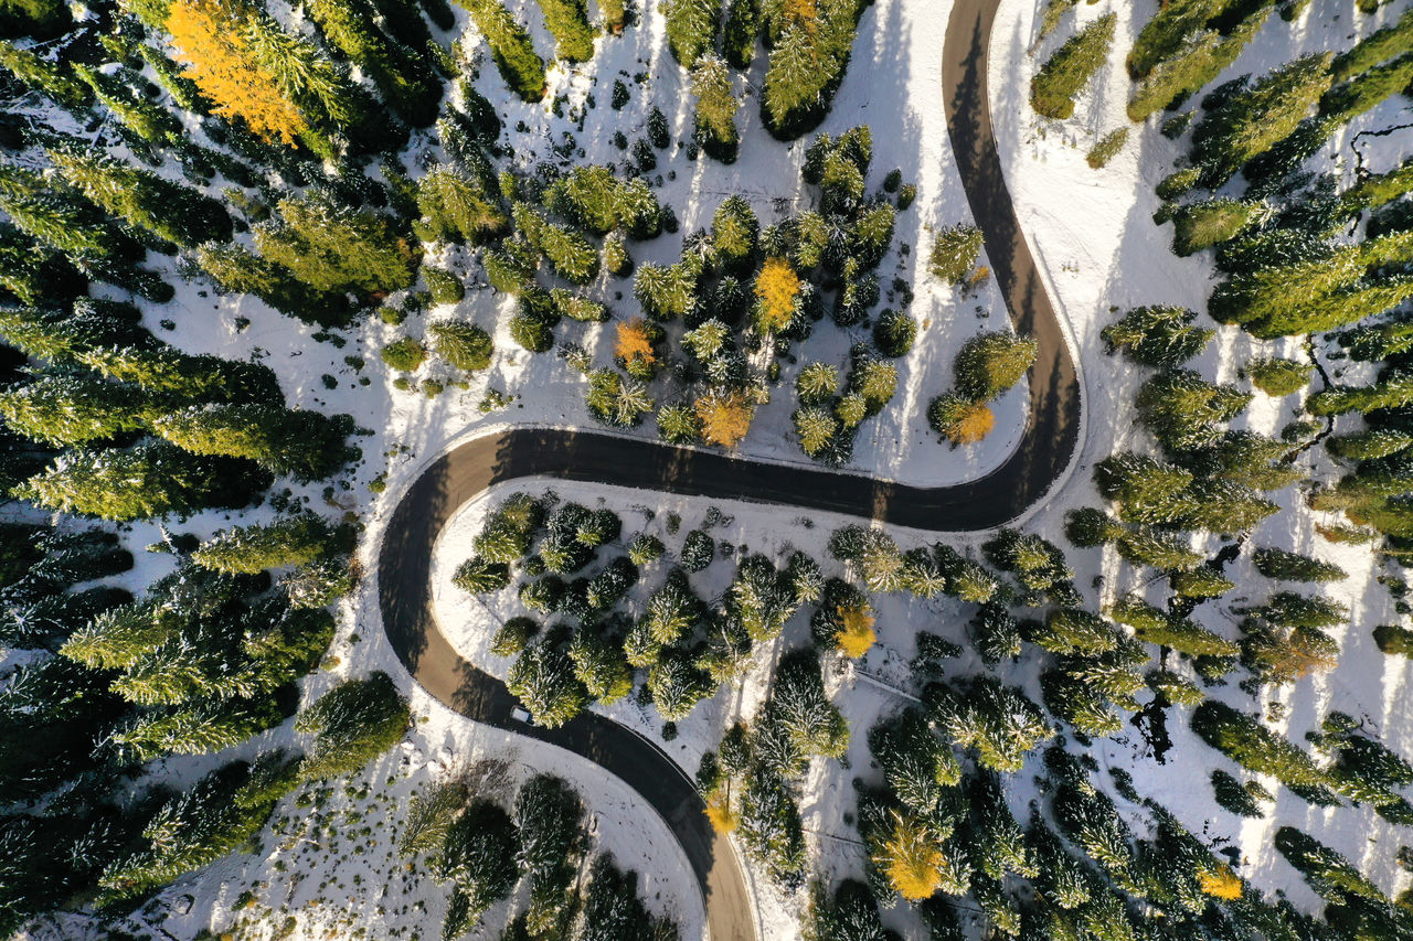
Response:
[[[292,144],[308,124],[284,97],[276,76],[256,65],[240,23],[244,13],[230,0],[175,0],[167,31],[177,47],[182,75],[215,102],[222,117],[239,117],[264,141]]]

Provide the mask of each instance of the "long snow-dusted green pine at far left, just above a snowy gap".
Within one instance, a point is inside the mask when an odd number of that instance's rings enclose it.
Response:
[[[144,439],[124,449],[68,452],[13,493],[51,510],[143,520],[208,506],[243,506],[267,483],[252,465],[201,458],[165,441]]]

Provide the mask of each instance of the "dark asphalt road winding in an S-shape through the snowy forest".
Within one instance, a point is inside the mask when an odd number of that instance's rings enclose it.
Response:
[[[408,673],[456,712],[550,742],[633,787],[681,842],[701,884],[715,941],[756,938],[736,853],[706,821],[692,781],[656,745],[599,715],[558,729],[512,719],[504,684],[463,660],[437,626],[431,560],[448,520],[487,487],[528,476],[589,480],[687,496],[831,510],[901,526],[985,530],[1013,520],[1065,472],[1080,432],[1075,363],[1016,220],[992,136],[986,52],[999,0],[958,0],[947,24],[947,123],[992,271],[1020,332],[1040,343],[1020,444],[996,470],[968,483],[914,487],[858,475],[763,463],[603,434],[519,428],[476,438],[438,458],[393,511],[377,561],[383,627]]]

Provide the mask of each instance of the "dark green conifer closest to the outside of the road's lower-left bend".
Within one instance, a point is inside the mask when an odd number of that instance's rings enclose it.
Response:
[[[314,742],[300,763],[300,777],[312,781],[359,770],[393,747],[406,733],[411,715],[386,673],[348,680],[298,715],[295,732]]]

